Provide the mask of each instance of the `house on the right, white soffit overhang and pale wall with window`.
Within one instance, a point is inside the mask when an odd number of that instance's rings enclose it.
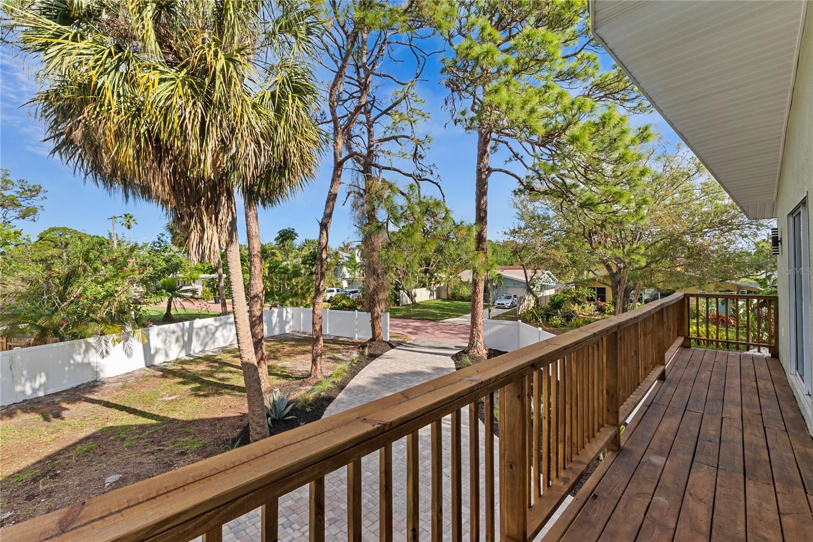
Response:
[[[593,35],[746,216],[776,218],[779,357],[813,431],[813,6],[593,0],[590,11]]]

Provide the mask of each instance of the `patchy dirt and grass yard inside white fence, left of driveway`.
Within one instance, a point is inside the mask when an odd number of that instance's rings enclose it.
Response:
[[[362,341],[325,338],[324,372]],[[307,390],[311,337],[266,340],[282,394]],[[235,348],[183,358],[0,409],[0,525],[225,452],[246,426]]]

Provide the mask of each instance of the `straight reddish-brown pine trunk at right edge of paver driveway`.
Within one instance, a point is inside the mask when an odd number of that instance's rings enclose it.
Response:
[[[485,265],[488,256],[488,213],[489,213],[489,150],[491,133],[480,130],[477,133],[477,168],[475,172],[475,212],[474,247],[477,251],[475,269],[472,269],[472,325],[468,334],[468,346],[463,352],[469,356],[485,358],[489,349],[485,346],[483,333],[483,299],[485,295]]]

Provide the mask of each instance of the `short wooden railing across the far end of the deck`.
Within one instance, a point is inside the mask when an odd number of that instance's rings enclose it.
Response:
[[[777,357],[776,295],[686,294],[692,346],[714,350],[763,349]]]

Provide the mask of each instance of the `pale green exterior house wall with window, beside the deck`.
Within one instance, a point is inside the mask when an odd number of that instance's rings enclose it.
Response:
[[[776,194],[776,222],[782,238],[778,256],[779,280],[779,357],[788,373],[790,387],[796,395],[807,429],[813,432],[813,400],[802,390],[798,377],[790,371],[790,333],[789,333],[789,284],[788,275],[788,213],[803,198],[807,198],[807,240],[809,253],[813,254],[813,5],[807,7],[802,47],[799,50],[796,82],[793,86],[793,98],[790,106],[788,128],[785,133],[785,148],[782,156],[782,168],[779,187]],[[807,262],[808,270],[810,262]],[[807,280],[811,280],[810,273]],[[813,321],[813,304],[806,308]],[[813,352],[813,338],[811,352]],[[813,363],[808,368],[813,373]]]

